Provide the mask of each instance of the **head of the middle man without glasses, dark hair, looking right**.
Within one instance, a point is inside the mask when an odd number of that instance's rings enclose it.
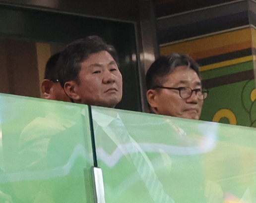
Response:
[[[123,95],[118,62],[115,48],[98,36],[74,41],[58,61],[60,84],[76,103],[115,107]]]

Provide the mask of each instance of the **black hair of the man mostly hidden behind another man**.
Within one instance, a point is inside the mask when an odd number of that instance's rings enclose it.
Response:
[[[53,82],[58,82],[58,74],[57,74],[57,61],[60,57],[61,52],[58,52],[54,55],[52,55],[47,63],[46,63],[46,67],[45,67],[45,78],[44,79],[48,79],[51,80]]]

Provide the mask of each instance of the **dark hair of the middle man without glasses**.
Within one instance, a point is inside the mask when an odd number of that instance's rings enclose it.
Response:
[[[58,66],[58,76],[61,86],[68,81],[75,81],[80,84],[79,72],[81,70],[81,63],[92,53],[100,51],[108,51],[114,60],[118,63],[118,55],[115,48],[108,45],[102,38],[98,36],[89,36],[84,39],[76,40],[62,51]]]

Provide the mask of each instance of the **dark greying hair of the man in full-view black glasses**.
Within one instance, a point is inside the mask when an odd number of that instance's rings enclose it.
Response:
[[[165,77],[171,74],[175,68],[179,66],[189,66],[201,79],[199,65],[190,56],[186,54],[172,53],[168,56],[160,56],[151,64],[146,74],[147,90],[154,89],[156,86],[161,86]]]

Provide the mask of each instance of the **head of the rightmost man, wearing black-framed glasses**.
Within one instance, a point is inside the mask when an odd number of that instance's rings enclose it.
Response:
[[[188,55],[160,56],[146,74],[147,101],[156,114],[199,119],[207,91],[199,65]]]

